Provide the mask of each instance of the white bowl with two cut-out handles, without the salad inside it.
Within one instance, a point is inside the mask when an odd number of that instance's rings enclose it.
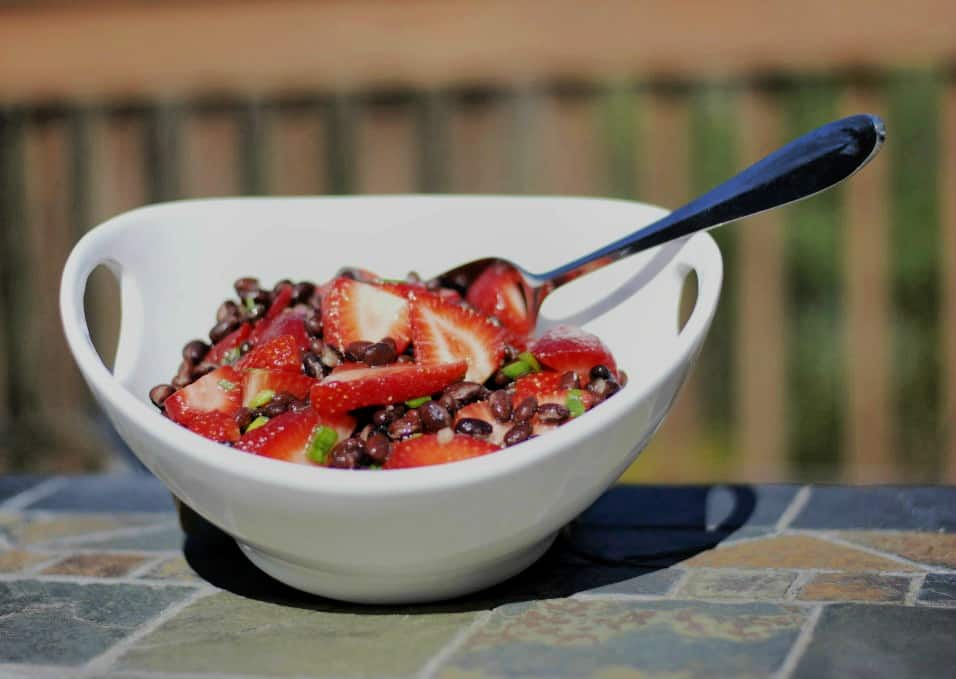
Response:
[[[228,198],[154,205],[84,236],[63,271],[67,341],[97,401],[183,502],[293,587],[356,602],[428,601],[508,578],[633,462],[660,426],[704,340],[722,263],[707,234],[617,262],[556,291],[538,330],[595,332],[630,376],[614,398],[556,431],[454,464],[387,472],[309,468],[205,440],[147,393],[175,372],[240,275],[321,281],[342,265],[422,275],[486,255],[532,271],[619,238],[664,212],[614,200],[539,197]],[[120,280],[111,374],[90,342],[87,277]],[[678,331],[687,274],[698,298]]]

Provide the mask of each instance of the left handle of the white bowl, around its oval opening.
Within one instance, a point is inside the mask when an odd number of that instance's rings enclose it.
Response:
[[[60,279],[63,331],[80,371],[91,382],[102,383],[110,375],[93,346],[83,304],[87,281],[96,267],[105,266],[119,281],[121,330],[112,373],[119,382],[124,383],[132,375],[142,344],[142,297],[134,277],[123,266],[123,247],[116,234],[109,225],[87,233],[67,258]]]

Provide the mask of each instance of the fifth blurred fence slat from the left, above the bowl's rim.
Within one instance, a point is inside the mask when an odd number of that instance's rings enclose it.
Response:
[[[410,100],[367,102],[357,112],[357,193],[412,193],[419,148]]]

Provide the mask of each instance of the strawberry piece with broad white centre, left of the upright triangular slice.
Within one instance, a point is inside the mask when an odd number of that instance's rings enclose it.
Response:
[[[352,342],[391,337],[402,353],[410,339],[408,302],[381,286],[338,278],[322,303],[322,326],[325,341],[340,352]]]

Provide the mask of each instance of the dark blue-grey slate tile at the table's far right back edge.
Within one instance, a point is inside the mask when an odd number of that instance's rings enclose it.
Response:
[[[793,528],[956,531],[956,487],[815,486]]]

